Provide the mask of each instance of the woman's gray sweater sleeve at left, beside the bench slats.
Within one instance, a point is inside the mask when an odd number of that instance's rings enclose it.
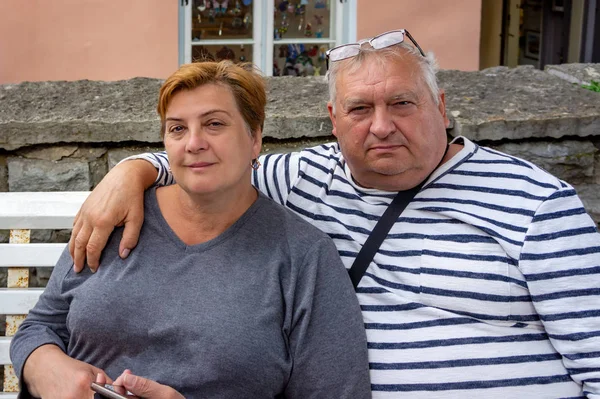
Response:
[[[31,309],[11,341],[10,358],[22,389],[25,388],[23,366],[34,350],[42,345],[53,344],[63,352],[67,351],[69,302],[62,295],[62,281],[72,267],[73,261],[67,247],[54,267],[48,285],[37,304]],[[21,398],[23,397],[27,396],[21,395]]]

